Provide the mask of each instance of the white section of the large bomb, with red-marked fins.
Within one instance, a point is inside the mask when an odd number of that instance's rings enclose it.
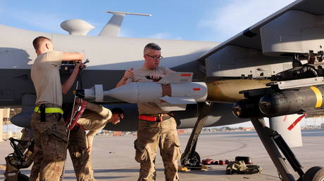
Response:
[[[85,98],[103,102],[104,95],[130,103],[154,102],[166,111],[184,110],[187,104],[205,102],[208,90],[204,82],[191,82],[192,73],[173,72],[158,82],[132,82],[111,90],[102,85],[85,89]]]

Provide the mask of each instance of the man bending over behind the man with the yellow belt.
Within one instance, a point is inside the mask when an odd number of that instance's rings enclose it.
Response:
[[[94,171],[92,169],[90,155],[94,136],[107,123],[113,123],[113,125],[119,123],[124,117],[124,112],[123,109],[117,107],[109,110],[101,105],[96,105],[91,102],[86,103],[87,109],[85,109],[85,112],[77,121],[77,126],[70,132],[68,150],[77,180],[92,181],[94,180]],[[85,130],[89,130],[87,135]]]

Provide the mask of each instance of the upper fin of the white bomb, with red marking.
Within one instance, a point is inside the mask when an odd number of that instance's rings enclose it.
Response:
[[[166,74],[158,83],[188,83],[192,82],[192,72],[170,72]]]

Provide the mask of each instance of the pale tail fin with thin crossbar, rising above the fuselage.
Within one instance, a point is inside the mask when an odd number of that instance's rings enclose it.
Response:
[[[113,17],[111,17],[111,19],[107,22],[106,26],[103,29],[101,29],[101,32],[98,34],[98,36],[110,36],[110,37],[118,36],[125,15],[151,16],[149,14],[127,13],[127,12],[118,12],[118,11],[107,11],[107,13],[112,13]]]

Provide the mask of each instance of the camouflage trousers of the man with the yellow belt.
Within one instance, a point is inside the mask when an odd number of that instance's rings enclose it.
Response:
[[[46,114],[46,121],[42,122],[40,114],[34,112],[30,125],[35,141],[30,180],[60,180],[68,143],[61,114]]]

